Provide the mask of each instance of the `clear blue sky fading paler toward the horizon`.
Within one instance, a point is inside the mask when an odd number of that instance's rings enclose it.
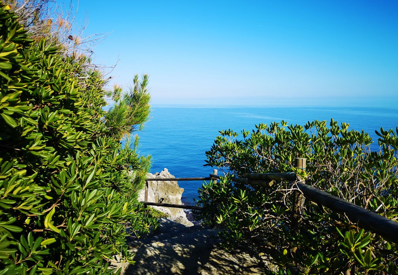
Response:
[[[398,1],[80,0],[112,83],[153,105],[396,107]]]

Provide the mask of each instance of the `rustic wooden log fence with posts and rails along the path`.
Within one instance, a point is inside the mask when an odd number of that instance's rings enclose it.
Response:
[[[300,169],[305,169],[306,159],[297,158],[296,167]],[[142,201],[142,203],[144,205],[156,205],[164,207],[178,207],[185,209],[202,210],[203,207],[199,206],[148,202],[148,181],[218,180],[218,179],[220,179],[220,176],[217,175],[217,170],[214,170],[213,174],[210,174],[209,177],[205,178],[150,178],[146,180],[145,201]],[[323,192],[313,186],[306,184],[303,180],[297,182],[297,180],[300,179],[297,178],[297,175],[294,172],[248,174],[247,178],[231,179],[232,182],[244,183],[255,186],[265,186],[268,188],[271,187],[273,184],[275,184],[275,182],[281,180],[296,182],[295,185],[297,187],[297,191],[295,191],[294,202],[293,202],[292,230],[297,230],[297,228],[299,227],[302,217],[301,214],[304,205],[304,199],[308,199],[310,201],[317,203],[318,205],[328,207],[333,211],[346,215],[351,222],[358,223],[360,227],[371,230],[379,234],[380,236],[383,236],[386,240],[398,243],[398,223],[396,221],[387,219],[386,217],[383,217],[375,212],[369,211],[363,207],[345,201],[344,199],[332,196],[329,193]],[[293,252],[294,250],[295,249],[293,248]]]

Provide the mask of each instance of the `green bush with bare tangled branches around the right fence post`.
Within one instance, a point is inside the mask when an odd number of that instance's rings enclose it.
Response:
[[[395,274],[397,245],[372,232],[364,232],[347,217],[308,200],[303,221],[292,232],[292,189],[279,182],[271,188],[230,181],[231,174],[296,172],[313,186],[371,211],[397,219],[398,128],[377,132],[380,149],[371,150],[369,134],[348,130],[348,124],[331,120],[287,126],[282,121],[256,125],[242,138],[231,130],[220,132],[207,165],[226,176],[199,189],[201,218],[227,228],[225,246],[256,243],[259,253],[275,273],[291,273],[298,266],[304,274]],[[294,167],[296,157],[307,159],[306,170]],[[292,252],[292,247],[298,247]],[[293,269],[292,269],[293,270]],[[270,271],[271,273],[271,271]]]

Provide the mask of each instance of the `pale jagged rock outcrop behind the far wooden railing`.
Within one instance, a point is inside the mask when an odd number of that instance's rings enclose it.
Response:
[[[175,178],[167,168],[160,173],[147,174],[147,178]],[[174,203],[174,204],[182,204],[181,196],[182,192],[184,192],[183,188],[178,186],[178,182],[173,181],[157,181],[150,180],[148,181],[148,201],[149,202],[159,202],[159,203]],[[145,199],[145,189],[141,190],[139,195],[139,201],[144,201]],[[151,206],[154,207],[163,213],[166,213],[169,217],[168,219],[175,221],[176,223],[181,223],[186,226],[192,226],[193,223],[188,221],[187,216],[183,209],[181,208],[172,208],[172,207],[160,207],[160,206]]]

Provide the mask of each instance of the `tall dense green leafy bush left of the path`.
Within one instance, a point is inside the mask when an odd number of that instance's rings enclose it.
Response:
[[[29,39],[0,7],[1,275],[111,274],[115,254],[131,261],[126,227],[154,222],[136,200],[149,159],[113,134],[105,83],[87,62]],[[134,93],[129,104],[147,115]]]

